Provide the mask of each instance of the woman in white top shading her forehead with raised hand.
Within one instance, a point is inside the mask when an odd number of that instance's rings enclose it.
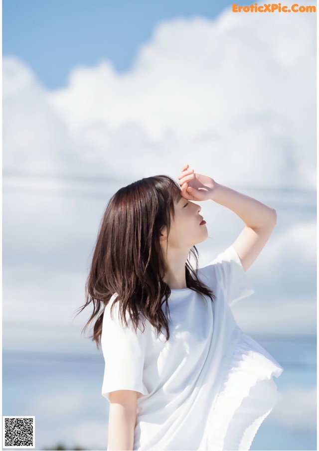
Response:
[[[88,323],[98,315],[92,339],[105,358],[108,450],[249,450],[279,399],[272,377],[283,368],[242,332],[230,306],[254,293],[246,271],[276,211],[188,165],[178,180],[158,175],[121,188],[98,233],[83,308],[93,302]],[[195,202],[204,200],[245,227],[198,269],[195,244],[208,232]]]

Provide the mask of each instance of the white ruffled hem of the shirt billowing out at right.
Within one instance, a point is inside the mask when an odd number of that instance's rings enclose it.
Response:
[[[220,370],[220,390],[213,400],[198,450],[249,450],[262,422],[280,399],[272,377],[280,376],[283,367],[241,332]]]

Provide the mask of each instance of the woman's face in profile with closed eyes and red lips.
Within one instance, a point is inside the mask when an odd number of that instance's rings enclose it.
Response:
[[[171,217],[168,246],[174,249],[188,250],[208,237],[206,224],[200,215],[201,206],[180,197],[174,201],[175,217]]]

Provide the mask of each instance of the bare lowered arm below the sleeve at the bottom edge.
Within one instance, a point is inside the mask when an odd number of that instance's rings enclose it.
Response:
[[[108,451],[133,450],[136,411],[117,403],[110,404]]]

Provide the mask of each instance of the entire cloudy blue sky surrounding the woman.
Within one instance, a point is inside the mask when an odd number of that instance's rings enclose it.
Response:
[[[252,449],[315,449],[316,17],[230,4],[2,2],[3,414],[35,414],[37,449],[105,449],[103,356],[74,318],[98,227],[124,183],[184,163],[276,208],[233,307],[285,368]],[[201,206],[205,265],[243,222]]]

